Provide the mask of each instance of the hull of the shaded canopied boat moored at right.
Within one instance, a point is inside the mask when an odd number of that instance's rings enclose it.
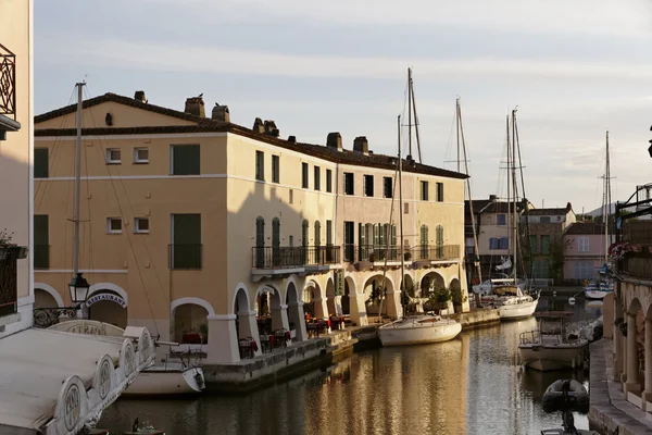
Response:
[[[577,369],[584,365],[588,341],[542,346],[528,344],[518,346],[521,363],[526,368],[548,372]]]

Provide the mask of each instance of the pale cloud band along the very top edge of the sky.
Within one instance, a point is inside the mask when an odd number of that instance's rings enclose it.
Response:
[[[149,0],[176,5],[177,0]],[[525,33],[587,33],[650,36],[652,13],[645,0],[186,0],[184,10],[211,20],[214,14],[251,23],[310,20],[378,25],[446,25]]]

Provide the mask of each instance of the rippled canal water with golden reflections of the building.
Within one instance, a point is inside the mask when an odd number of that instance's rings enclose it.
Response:
[[[594,319],[600,307],[544,298],[538,310],[567,309]],[[167,435],[213,434],[539,434],[561,426],[561,414],[541,410],[543,391],[557,378],[584,373],[523,371],[518,335],[534,318],[462,333],[452,341],[380,348],[247,396],[205,395],[188,400],[118,400],[98,427],[127,431],[134,419]],[[587,415],[575,414],[578,428]]]

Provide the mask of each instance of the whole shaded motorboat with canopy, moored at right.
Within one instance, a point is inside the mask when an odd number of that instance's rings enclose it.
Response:
[[[584,366],[589,341],[581,337],[566,337],[565,318],[573,313],[539,313],[539,328],[522,333],[518,351],[521,362],[529,369],[552,371]]]

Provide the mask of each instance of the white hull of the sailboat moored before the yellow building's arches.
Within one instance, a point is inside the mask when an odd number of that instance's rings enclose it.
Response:
[[[454,320],[422,315],[397,320],[378,328],[383,346],[424,345],[448,341],[457,336],[462,324]]]

